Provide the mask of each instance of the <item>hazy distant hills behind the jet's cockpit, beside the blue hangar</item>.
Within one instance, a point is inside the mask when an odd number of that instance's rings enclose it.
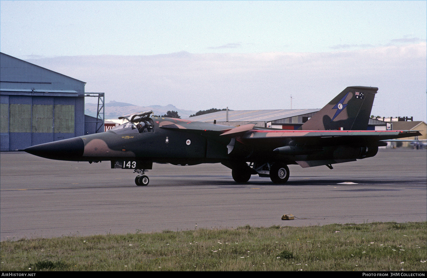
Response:
[[[181,116],[181,119],[188,118],[191,114],[196,113],[193,110],[184,110],[176,108],[175,105],[168,104],[166,106],[161,105],[149,105],[149,106],[138,106],[126,102],[110,101],[105,104],[105,119],[117,119],[120,116],[135,113],[143,112],[147,110],[153,110],[155,115],[164,115],[167,111],[177,111],[178,115]],[[97,104],[96,103],[86,103],[85,104],[85,114],[89,116],[97,116]]]

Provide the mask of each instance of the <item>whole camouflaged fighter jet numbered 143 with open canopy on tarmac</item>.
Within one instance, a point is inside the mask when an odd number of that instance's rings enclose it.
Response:
[[[136,185],[148,185],[153,162],[173,165],[222,163],[236,182],[251,175],[284,183],[287,165],[303,168],[375,156],[379,146],[418,131],[366,130],[376,87],[347,87],[305,122],[300,130],[277,130],[150,117],[152,111],[119,117],[123,125],[24,149],[37,156],[68,161],[111,161],[111,168],[133,169]]]

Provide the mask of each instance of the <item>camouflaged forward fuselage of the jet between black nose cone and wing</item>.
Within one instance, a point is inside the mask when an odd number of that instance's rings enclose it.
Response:
[[[182,119],[151,119],[154,122],[153,132],[138,133],[136,129],[129,129],[129,132],[117,134],[113,129],[81,136],[85,145],[81,159],[98,161],[133,157],[137,160],[181,165],[228,159],[227,144],[230,139],[218,136],[220,130],[227,126]],[[170,125],[175,126],[162,128]],[[200,130],[188,130],[186,127],[189,125]]]

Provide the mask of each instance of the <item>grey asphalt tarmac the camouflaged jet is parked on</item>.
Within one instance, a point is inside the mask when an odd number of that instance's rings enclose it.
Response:
[[[426,150],[382,149],[357,162],[301,168],[277,185],[235,183],[221,164],[154,164],[148,186],[109,162],[0,154],[0,240],[199,228],[426,221]],[[357,184],[339,185],[340,182]],[[283,221],[283,214],[299,218]]]

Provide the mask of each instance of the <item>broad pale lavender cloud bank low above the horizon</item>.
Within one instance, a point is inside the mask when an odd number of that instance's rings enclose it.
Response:
[[[426,43],[334,52],[88,55],[28,59],[86,92],[186,110],[322,108],[348,86],[379,87],[372,114],[426,120]]]

